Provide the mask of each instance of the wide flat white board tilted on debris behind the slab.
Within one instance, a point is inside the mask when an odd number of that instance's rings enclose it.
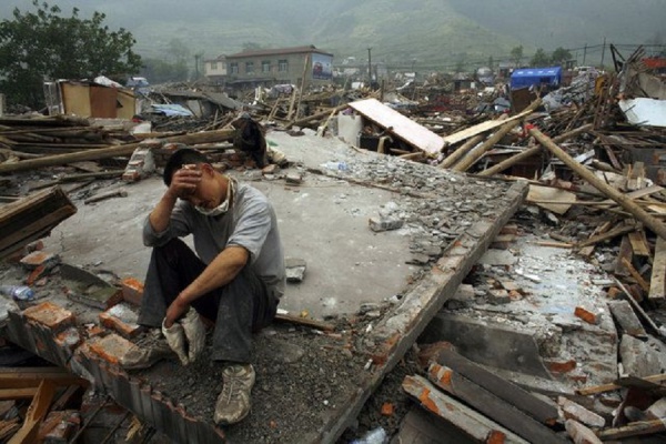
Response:
[[[440,135],[376,99],[352,102],[350,107],[391,134],[430,155],[437,155],[444,148],[444,140]]]

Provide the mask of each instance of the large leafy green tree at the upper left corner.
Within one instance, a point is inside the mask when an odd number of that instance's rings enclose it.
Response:
[[[62,17],[57,6],[33,0],[34,12],[13,10],[0,22],[0,90],[10,103],[33,109],[43,104],[42,84],[54,79],[121,80],[141,68],[132,51],[134,38],[123,28],[112,31],[105,14],[82,19],[74,8]]]

